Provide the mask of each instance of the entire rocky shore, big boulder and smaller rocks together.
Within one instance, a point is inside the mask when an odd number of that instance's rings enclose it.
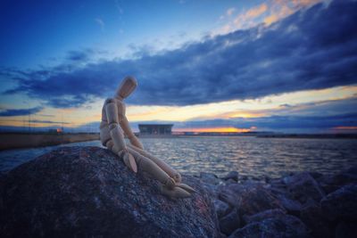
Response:
[[[2,237],[355,237],[357,167],[261,180],[183,175],[172,200],[108,150],[63,147],[0,176]]]

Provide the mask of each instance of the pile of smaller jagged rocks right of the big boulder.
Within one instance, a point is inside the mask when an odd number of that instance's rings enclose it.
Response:
[[[357,167],[264,180],[201,173],[228,237],[356,237]]]

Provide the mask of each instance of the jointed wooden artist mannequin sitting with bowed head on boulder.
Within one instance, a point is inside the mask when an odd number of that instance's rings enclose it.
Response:
[[[145,152],[143,144],[133,134],[129,121],[125,116],[123,100],[137,87],[137,80],[133,77],[124,78],[113,98],[104,102],[102,122],[100,124],[100,139],[104,146],[119,155],[124,163],[135,173],[143,170],[154,176],[161,184],[163,194],[172,198],[186,198],[195,190],[185,184],[180,184],[181,176],[162,160]],[[130,144],[126,144],[124,134],[128,136]]]

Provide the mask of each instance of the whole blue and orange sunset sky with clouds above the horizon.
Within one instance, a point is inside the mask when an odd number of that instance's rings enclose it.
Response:
[[[0,130],[357,132],[357,2],[1,1]]]

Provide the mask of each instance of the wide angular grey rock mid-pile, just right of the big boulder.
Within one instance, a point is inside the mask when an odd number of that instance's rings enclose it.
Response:
[[[237,207],[242,216],[250,216],[266,209],[285,210],[278,199],[262,185],[226,185],[221,188],[219,198]]]

